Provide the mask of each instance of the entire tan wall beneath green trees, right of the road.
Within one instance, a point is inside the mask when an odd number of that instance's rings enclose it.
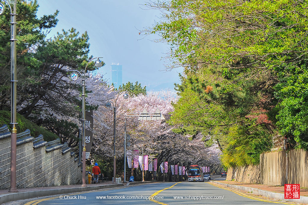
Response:
[[[259,166],[230,167],[226,180],[273,186],[300,184],[308,187],[308,151],[297,149],[263,153]],[[259,176],[257,176],[259,175]]]

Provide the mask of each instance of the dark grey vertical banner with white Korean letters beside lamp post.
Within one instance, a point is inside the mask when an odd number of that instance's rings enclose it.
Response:
[[[86,142],[86,159],[89,159],[90,153],[91,153],[91,146],[92,146],[92,137],[93,137],[93,111],[86,111],[86,127],[84,131],[84,137],[85,137],[85,142]],[[83,141],[82,141],[83,142]]]

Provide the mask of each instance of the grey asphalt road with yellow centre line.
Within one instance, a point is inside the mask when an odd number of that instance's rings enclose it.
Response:
[[[225,177],[213,176],[214,180]],[[151,200],[149,200],[149,198]],[[263,200],[263,201],[262,201]],[[125,188],[82,192],[24,203],[46,204],[274,204],[265,199],[226,190],[208,182],[150,183]],[[283,204],[275,202],[275,204]]]

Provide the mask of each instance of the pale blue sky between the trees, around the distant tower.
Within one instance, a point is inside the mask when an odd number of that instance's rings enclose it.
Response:
[[[140,82],[147,90],[173,90],[183,69],[165,71],[168,45],[152,42],[158,36],[139,35],[139,30],[159,21],[158,10],[148,9],[144,0],[38,0],[38,17],[59,10],[58,25],[49,37],[62,29],[88,32],[90,55],[103,56],[106,65],[99,72],[110,78],[111,63],[120,63],[123,83]]]

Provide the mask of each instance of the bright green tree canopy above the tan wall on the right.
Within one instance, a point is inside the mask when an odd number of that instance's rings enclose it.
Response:
[[[307,2],[151,1],[161,21],[143,34],[184,66],[169,123],[210,135],[225,166],[258,163],[272,137],[308,149]]]

